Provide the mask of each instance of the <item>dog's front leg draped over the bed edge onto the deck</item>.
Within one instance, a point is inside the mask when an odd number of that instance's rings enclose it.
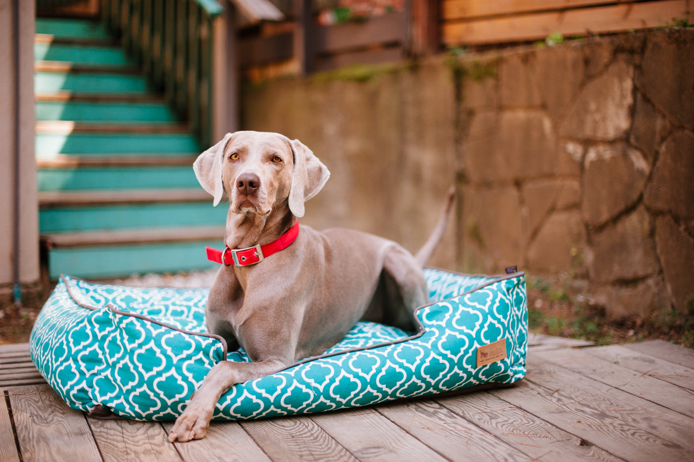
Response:
[[[183,414],[176,419],[169,433],[169,441],[173,443],[203,438],[222,393],[234,384],[269,375],[285,366],[287,364],[279,359],[253,363],[222,361],[215,364],[201,387],[193,393]]]

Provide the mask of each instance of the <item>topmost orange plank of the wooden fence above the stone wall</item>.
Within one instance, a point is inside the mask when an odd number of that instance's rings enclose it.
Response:
[[[518,15],[538,11],[557,11],[584,6],[634,3],[636,0],[443,0],[443,21],[489,16]]]

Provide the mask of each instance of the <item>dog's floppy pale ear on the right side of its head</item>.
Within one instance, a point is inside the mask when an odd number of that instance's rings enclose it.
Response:
[[[294,173],[291,177],[289,190],[289,209],[296,216],[303,216],[304,203],[323,189],[330,178],[328,167],[323,165],[318,157],[298,139],[291,144],[294,154]]]

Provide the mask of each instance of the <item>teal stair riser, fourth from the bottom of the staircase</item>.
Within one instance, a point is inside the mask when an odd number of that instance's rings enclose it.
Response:
[[[52,154],[197,153],[198,142],[188,133],[37,133],[38,158]]]

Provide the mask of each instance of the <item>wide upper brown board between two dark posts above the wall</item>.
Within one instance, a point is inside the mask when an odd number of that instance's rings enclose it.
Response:
[[[374,17],[369,21],[346,22],[334,26],[316,27],[314,51],[316,53],[338,53],[384,43],[405,43],[407,31],[404,12],[391,12]]]

